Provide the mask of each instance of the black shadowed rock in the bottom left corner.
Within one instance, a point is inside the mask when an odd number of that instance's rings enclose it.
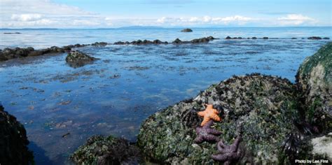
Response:
[[[25,127],[0,103],[0,164],[33,164]]]

